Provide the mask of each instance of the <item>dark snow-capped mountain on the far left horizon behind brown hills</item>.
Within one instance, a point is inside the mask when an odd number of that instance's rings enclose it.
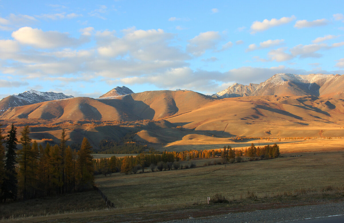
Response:
[[[4,113],[10,107],[22,105],[32,105],[50,100],[73,98],[72,95],[55,92],[40,92],[35,90],[25,91],[18,95],[10,95],[0,100],[0,114]]]

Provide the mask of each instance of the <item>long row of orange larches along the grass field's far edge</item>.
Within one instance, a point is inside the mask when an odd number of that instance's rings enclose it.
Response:
[[[137,173],[141,170],[143,173],[145,168],[149,168],[152,172],[155,170],[176,170],[192,168],[194,163],[183,167],[178,161],[192,160],[197,158],[215,158],[222,157],[223,163],[233,163],[243,161],[242,156],[258,157],[260,159],[277,158],[279,153],[279,146],[267,145],[264,147],[255,147],[251,144],[249,148],[233,149],[230,146],[225,146],[224,149],[211,150],[188,150],[181,152],[164,151],[162,154],[141,152],[138,156],[125,156],[118,158],[112,156],[110,158],[100,158],[94,160],[95,174],[110,174],[115,172],[122,172],[125,174]]]

